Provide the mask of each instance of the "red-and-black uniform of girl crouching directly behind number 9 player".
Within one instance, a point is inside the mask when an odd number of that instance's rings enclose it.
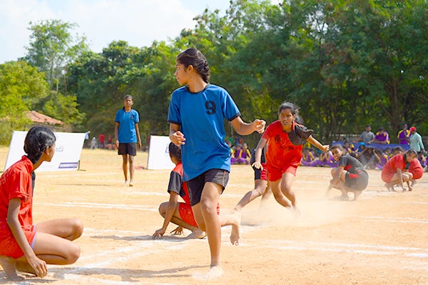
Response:
[[[178,204],[178,212],[183,222],[190,224],[193,227],[198,227],[193,216],[192,206],[190,206],[190,195],[187,183],[183,182],[183,164],[178,162],[170,174],[170,182],[168,192],[174,191],[184,200],[184,203]],[[217,204],[217,214],[220,213],[220,205]]]

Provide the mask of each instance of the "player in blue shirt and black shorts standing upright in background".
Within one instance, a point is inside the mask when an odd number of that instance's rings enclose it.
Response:
[[[125,95],[123,98],[123,108],[116,113],[116,126],[114,135],[116,138],[116,147],[118,155],[122,155],[123,175],[125,175],[125,185],[128,185],[128,162],[129,162],[129,186],[133,186],[134,173],[134,157],[137,155],[137,147],[141,148],[140,131],[138,130],[138,122],[140,116],[137,110],[132,108],[133,97]],[[138,143],[138,145],[137,145]]]

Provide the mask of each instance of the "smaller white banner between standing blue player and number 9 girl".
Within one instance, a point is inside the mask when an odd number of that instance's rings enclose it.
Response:
[[[159,135],[150,136],[150,145],[148,146],[148,162],[147,169],[149,170],[172,170],[175,165],[169,157],[168,146],[170,144],[169,137]]]

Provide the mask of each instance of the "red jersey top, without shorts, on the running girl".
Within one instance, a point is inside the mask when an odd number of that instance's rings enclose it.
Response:
[[[295,123],[292,123],[292,130]],[[302,145],[294,145],[288,133],[282,130],[279,120],[267,126],[262,138],[267,140],[266,164],[276,168],[283,168],[284,165],[297,167],[302,160]]]

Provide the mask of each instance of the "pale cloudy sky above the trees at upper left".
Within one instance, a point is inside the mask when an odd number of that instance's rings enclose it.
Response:
[[[0,64],[26,55],[29,22],[61,20],[78,26],[72,36],[86,36],[99,53],[112,41],[141,48],[168,41],[208,8],[224,14],[230,0],[0,0]]]

